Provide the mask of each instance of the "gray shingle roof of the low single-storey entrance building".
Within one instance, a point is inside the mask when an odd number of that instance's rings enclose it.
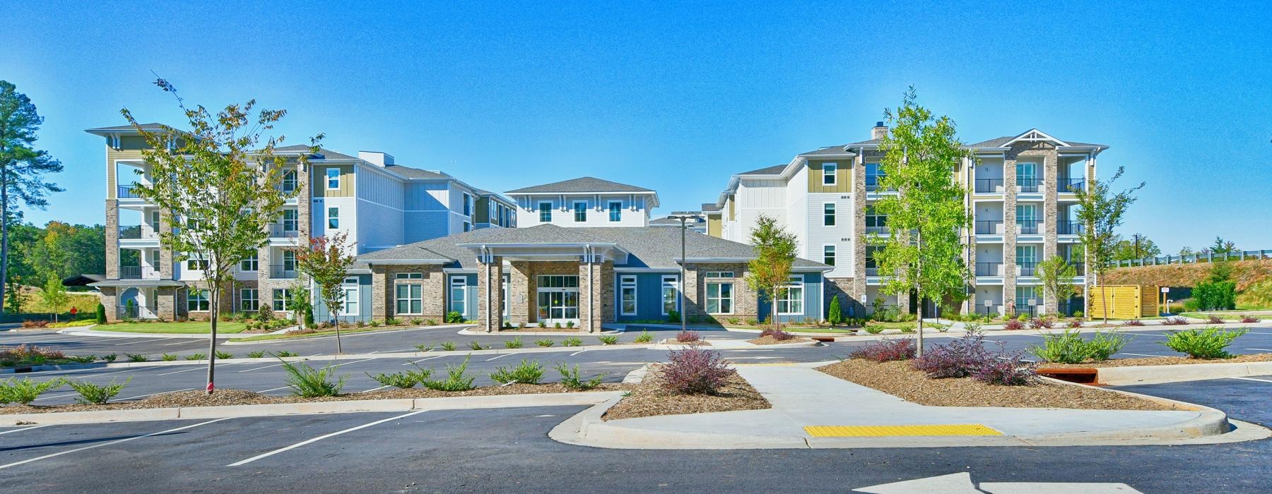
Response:
[[[686,253],[689,259],[750,259],[754,248],[715,236],[687,232]],[[631,254],[619,267],[679,269],[681,231],[660,226],[645,227],[584,227],[565,229],[556,225],[538,225],[527,229],[481,229],[463,234],[425,240],[393,249],[364,254],[359,262],[385,259],[453,259],[448,267],[476,268],[477,259],[463,244],[617,244]],[[828,268],[828,265],[796,259],[798,268]]]

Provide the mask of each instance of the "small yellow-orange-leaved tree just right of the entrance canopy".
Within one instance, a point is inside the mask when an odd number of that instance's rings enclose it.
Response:
[[[795,234],[786,231],[777,220],[761,215],[756,227],[750,230],[750,244],[756,246],[756,258],[747,268],[747,284],[756,292],[768,296],[771,310],[768,317],[773,328],[777,321],[777,298],[786,295],[791,282],[791,265],[795,264]]]

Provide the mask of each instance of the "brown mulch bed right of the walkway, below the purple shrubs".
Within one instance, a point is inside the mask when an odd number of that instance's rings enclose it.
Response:
[[[922,371],[911,368],[907,361],[879,363],[852,358],[817,370],[927,406],[1177,410],[1156,401],[1086,386],[1046,381],[1029,386],[997,386],[969,377],[930,378]]]

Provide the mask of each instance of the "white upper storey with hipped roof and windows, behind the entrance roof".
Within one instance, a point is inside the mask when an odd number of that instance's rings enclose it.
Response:
[[[516,201],[516,224],[522,227],[649,226],[649,211],[658,207],[654,190],[591,177],[525,187],[506,194]]]

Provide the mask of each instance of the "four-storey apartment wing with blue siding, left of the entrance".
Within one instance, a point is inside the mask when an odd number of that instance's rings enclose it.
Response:
[[[146,131],[163,131],[149,123]],[[102,292],[111,319],[206,317],[209,302],[202,288],[198,259],[176,262],[159,244],[159,232],[170,225],[155,204],[134,188],[149,182],[142,159],[146,144],[131,126],[90,128],[106,137],[106,279],[92,283]],[[276,155],[296,156],[309,146],[277,147]],[[228,287],[235,311],[256,311],[284,301],[298,278],[295,254],[312,236],[343,232],[357,254],[486,227],[515,227],[515,203],[474,188],[441,171],[393,163],[384,152],[357,156],[319,150],[308,156],[308,169],[282,170],[282,187],[295,192],[270,239],[254,258],[245,259]]]

